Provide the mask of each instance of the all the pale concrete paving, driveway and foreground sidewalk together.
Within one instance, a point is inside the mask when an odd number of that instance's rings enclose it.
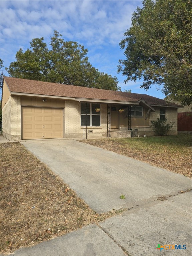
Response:
[[[96,212],[130,210],[13,256],[191,256],[189,178],[72,139],[22,143]]]

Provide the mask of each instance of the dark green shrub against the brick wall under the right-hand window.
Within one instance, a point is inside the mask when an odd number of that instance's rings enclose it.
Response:
[[[153,131],[155,132],[156,135],[162,136],[162,135],[167,135],[171,129],[173,128],[174,123],[170,122],[168,124],[165,124],[167,122],[167,118],[164,120],[160,120],[157,118],[156,121],[151,121],[152,125],[151,127],[153,128]]]

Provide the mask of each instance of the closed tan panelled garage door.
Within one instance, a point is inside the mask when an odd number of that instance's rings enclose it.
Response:
[[[63,109],[22,107],[22,139],[63,137]]]

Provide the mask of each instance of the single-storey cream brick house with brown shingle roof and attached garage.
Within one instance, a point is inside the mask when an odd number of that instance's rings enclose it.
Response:
[[[3,136],[7,139],[154,135],[150,121],[175,122],[181,106],[146,94],[3,78]],[[99,109],[96,111],[96,109]],[[120,113],[123,109],[123,112]]]

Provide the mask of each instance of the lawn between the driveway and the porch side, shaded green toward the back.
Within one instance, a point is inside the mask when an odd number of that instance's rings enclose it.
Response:
[[[81,142],[191,177],[191,134],[102,138]]]

